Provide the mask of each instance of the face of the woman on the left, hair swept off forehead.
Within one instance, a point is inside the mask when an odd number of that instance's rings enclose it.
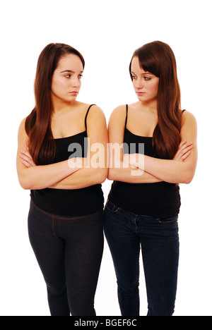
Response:
[[[75,54],[61,57],[52,77],[52,96],[62,102],[73,102],[81,88],[83,64]]]

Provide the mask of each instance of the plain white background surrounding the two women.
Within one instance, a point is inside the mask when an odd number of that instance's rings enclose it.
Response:
[[[28,240],[29,192],[16,175],[18,126],[34,107],[40,52],[50,42],[81,51],[86,70],[78,100],[98,104],[108,121],[116,106],[136,102],[128,71],[134,50],[159,39],[175,52],[182,108],[199,126],[196,176],[181,185],[175,316],[211,316],[211,0],[7,0],[0,4],[0,25],[0,314],[49,315],[45,283]],[[105,200],[110,185],[103,184]],[[106,242],[95,308],[98,315],[120,315]],[[141,267],[141,315],[146,312]]]

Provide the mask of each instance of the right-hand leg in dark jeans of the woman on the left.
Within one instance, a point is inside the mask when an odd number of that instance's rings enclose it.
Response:
[[[102,225],[102,212],[61,224],[66,241],[66,286],[73,316],[95,313],[94,297],[104,246]]]

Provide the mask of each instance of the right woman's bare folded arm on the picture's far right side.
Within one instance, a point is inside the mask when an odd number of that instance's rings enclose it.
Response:
[[[184,161],[155,159],[152,157],[136,154],[129,161],[131,165],[138,166],[139,169],[157,176],[162,181],[169,183],[190,183],[194,178],[197,163],[197,127],[196,119],[189,112],[184,113],[182,123],[182,140],[192,141],[192,150],[189,157]]]

